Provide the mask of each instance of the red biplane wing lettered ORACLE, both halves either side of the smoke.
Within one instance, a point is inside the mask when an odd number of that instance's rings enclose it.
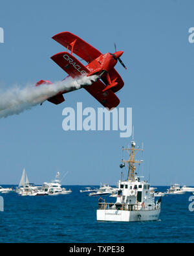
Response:
[[[65,72],[67,72],[72,78],[80,75],[87,75],[89,70],[81,62],[79,62],[74,56],[69,52],[59,52],[51,57],[56,64],[61,67]],[[116,108],[120,103],[120,100],[113,91],[108,90],[103,92],[105,89],[105,84],[98,80],[94,82],[91,86],[85,86],[84,88],[91,93],[91,95],[98,100],[105,108]]]

